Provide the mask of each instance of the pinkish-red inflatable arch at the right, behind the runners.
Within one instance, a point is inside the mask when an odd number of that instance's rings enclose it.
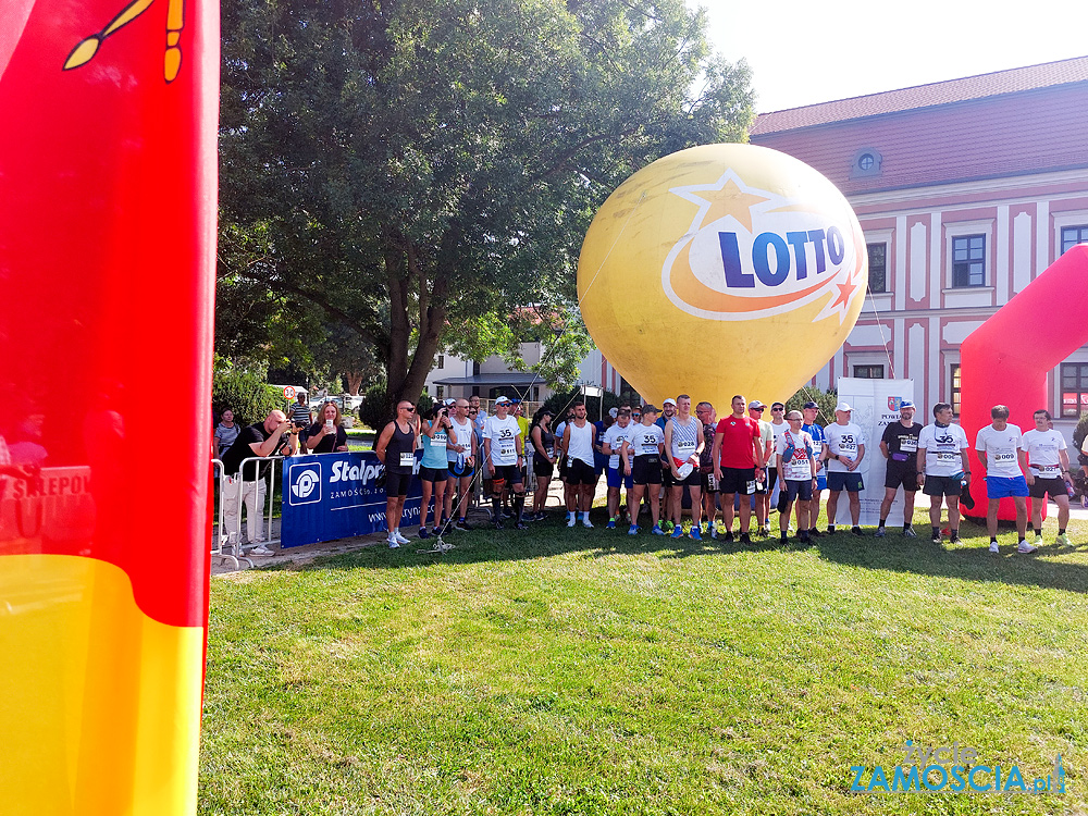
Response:
[[[1047,374],[1088,343],[1088,245],[1073,247],[1012,300],[976,329],[960,347],[962,404],[960,424],[972,445],[990,424],[990,408],[1007,405],[1009,421],[1028,431],[1031,415],[1048,404]],[[1076,461],[1076,454],[1071,452]],[[975,508],[963,511],[986,517],[986,483],[981,471],[970,487]],[[1030,502],[1030,499],[1028,499]],[[1002,499],[998,517],[1015,519],[1011,498]]]

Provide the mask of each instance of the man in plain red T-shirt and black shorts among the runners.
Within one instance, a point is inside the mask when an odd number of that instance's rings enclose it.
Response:
[[[744,416],[747,400],[735,396],[733,412],[721,419],[714,432],[714,477],[718,480],[726,541],[733,540],[733,496],[741,494],[741,543],[750,544],[752,494],[756,475],[763,475],[763,445],[759,423]]]

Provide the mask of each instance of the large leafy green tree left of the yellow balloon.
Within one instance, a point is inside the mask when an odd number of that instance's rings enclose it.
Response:
[[[619,182],[744,138],[747,69],[705,22],[684,0],[225,4],[221,290],[320,308],[373,346],[390,408],[479,329],[509,322],[487,350],[517,357],[520,310],[577,314]],[[570,322],[556,383],[585,344]]]

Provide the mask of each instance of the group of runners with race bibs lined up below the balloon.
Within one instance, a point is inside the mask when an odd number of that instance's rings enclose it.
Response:
[[[808,542],[820,535],[816,522],[820,496],[828,491],[826,532],[833,534],[841,494],[846,493],[850,532],[863,535],[858,524],[864,490],[858,468],[866,455],[862,429],[851,420],[846,403],[836,406],[836,421],[821,426],[819,406],[806,403],[787,411],[782,403],[749,404],[742,395],[732,398],[730,412],[718,418],[712,404],[692,405],[681,394],[656,406],[619,406],[610,422],[589,420],[586,407],[576,401],[553,424],[547,408],[529,421],[515,400],[498,397],[495,413],[487,416],[479,398],[447,400],[435,405],[423,418],[405,400],[397,418],[380,434],[375,450],[386,466],[388,543],[408,543],[399,530],[404,500],[412,478],[416,449],[423,448],[419,478],[423,487],[420,537],[449,529],[469,529],[466,514],[473,478],[483,479],[491,497],[491,523],[502,529],[504,519],[518,529],[546,518],[545,502],[551,480],[564,482],[567,526],[592,528],[590,508],[602,475],[607,480],[608,528],[627,527],[638,535],[643,512],[650,517],[652,535],[685,534],[683,517],[691,523],[687,534],[695,540],[708,534],[732,541],[739,516],[739,540],[770,535],[771,498],[778,493],[778,532],[783,541],[795,530]],[[942,505],[948,508],[949,537],[959,543],[961,500],[969,502],[970,462],[964,431],[952,422],[952,407],[934,406],[934,421],[914,422],[915,406],[903,401],[900,418],[883,430],[880,454],[887,459],[885,497],[877,536],[887,534],[888,516],[900,490],[904,498],[902,534],[916,537],[911,524],[914,498],[920,489],[931,497],[932,539],[942,539]],[[1036,428],[1027,433],[1007,422],[1004,406],[993,409],[993,423],[979,432],[979,460],[987,471],[988,523],[991,551],[998,552],[997,514],[1001,498],[1011,496],[1017,509],[1018,549],[1030,553],[1041,543],[1041,505],[1033,507],[1035,543],[1026,535],[1028,495],[1050,495],[1059,506],[1058,544],[1068,545],[1070,461],[1062,434],[1050,426],[1046,410],[1035,413]],[[528,468],[532,467],[536,490],[527,508]],[[1015,471],[1015,472],[1014,472]],[[626,489],[626,506],[620,491]],[[459,497],[455,502],[455,494]],[[433,511],[431,510],[433,499]],[[720,516],[721,527],[718,526]],[[753,529],[752,517],[755,517]],[[429,529],[428,522],[432,520]]]

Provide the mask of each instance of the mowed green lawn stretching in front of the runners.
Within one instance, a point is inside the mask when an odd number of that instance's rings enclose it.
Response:
[[[1088,523],[994,557],[924,517],[805,548],[556,519],[218,578],[200,813],[1081,812]],[[850,790],[906,740],[1029,787],[1060,753],[1066,793]]]

